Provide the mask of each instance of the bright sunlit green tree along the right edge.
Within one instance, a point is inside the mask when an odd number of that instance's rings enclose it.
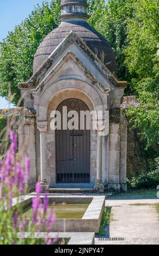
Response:
[[[140,107],[130,108],[133,127],[140,129],[147,148],[157,144],[159,130],[158,82],[159,57],[157,55],[158,0],[137,0],[135,16],[128,21],[125,64],[132,75],[132,90]]]

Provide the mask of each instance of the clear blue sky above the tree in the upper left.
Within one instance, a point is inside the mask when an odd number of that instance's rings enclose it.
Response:
[[[0,41],[31,13],[36,3],[43,1],[46,0],[0,0]],[[8,103],[0,97],[0,109],[4,107],[8,107]]]

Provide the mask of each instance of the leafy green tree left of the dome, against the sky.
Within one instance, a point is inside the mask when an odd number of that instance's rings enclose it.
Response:
[[[36,5],[32,13],[10,32],[1,44],[0,95],[8,97],[9,85],[13,103],[17,103],[19,82],[28,80],[33,74],[34,54],[45,36],[59,24],[60,0],[51,4]]]

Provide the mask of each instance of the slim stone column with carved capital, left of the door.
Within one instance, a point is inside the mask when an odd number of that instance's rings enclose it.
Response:
[[[47,132],[47,121],[37,122],[38,130],[40,131],[40,185],[42,191],[47,189],[46,181],[46,143],[45,137]]]

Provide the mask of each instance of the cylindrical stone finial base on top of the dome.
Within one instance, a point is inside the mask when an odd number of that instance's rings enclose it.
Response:
[[[88,19],[86,0],[62,0],[60,8],[62,10],[61,20],[70,18]]]

